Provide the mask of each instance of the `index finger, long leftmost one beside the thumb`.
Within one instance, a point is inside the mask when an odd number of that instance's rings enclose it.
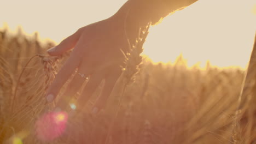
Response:
[[[46,100],[48,102],[53,101],[59,93],[61,87],[65,84],[68,78],[74,73],[74,70],[78,67],[84,52],[80,50],[83,46],[84,41],[82,38],[79,39],[75,46],[71,56],[67,59],[66,63],[62,66],[59,73],[56,75],[53,83],[46,92]],[[83,47],[82,47],[83,48]]]

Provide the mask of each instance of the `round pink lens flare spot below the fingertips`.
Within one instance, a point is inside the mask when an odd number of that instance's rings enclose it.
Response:
[[[40,140],[54,140],[66,129],[68,115],[66,112],[45,113],[36,122],[36,133]]]

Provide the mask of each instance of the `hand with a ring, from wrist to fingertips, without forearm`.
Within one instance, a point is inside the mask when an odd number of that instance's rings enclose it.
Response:
[[[125,58],[122,51],[129,50],[124,22],[119,17],[112,16],[109,19],[82,27],[59,45],[49,49],[48,53],[51,56],[57,56],[72,48],[70,57],[46,92],[46,99],[49,102],[53,101],[61,87],[75,73],[64,94],[61,95],[57,107],[65,109],[85,82],[86,77],[89,77],[76,104],[77,107],[83,106],[104,79],[101,95],[92,109],[92,113],[97,113],[106,104],[122,73],[120,66],[123,65]],[[77,72],[75,72],[76,69]]]

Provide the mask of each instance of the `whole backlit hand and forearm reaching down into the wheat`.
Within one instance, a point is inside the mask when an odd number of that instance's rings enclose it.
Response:
[[[89,100],[100,82],[105,80],[101,95],[92,109],[92,113],[97,113],[106,104],[122,73],[120,66],[125,61],[124,53],[129,52],[130,46],[135,44],[139,28],[148,25],[149,22],[154,25],[162,17],[196,1],[130,0],[109,19],[78,29],[73,35],[48,51],[51,56],[57,56],[73,48],[71,56],[49,87],[46,99],[49,102],[53,101],[64,83],[75,73],[65,93],[60,95],[57,106],[65,109],[73,95],[85,82],[86,77],[89,77],[78,100],[79,107]],[[77,72],[75,72],[76,69]]]

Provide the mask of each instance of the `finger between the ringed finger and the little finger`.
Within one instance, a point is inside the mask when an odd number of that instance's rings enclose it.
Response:
[[[86,83],[82,94],[80,95],[77,107],[83,107],[90,99],[91,95],[95,92],[98,85],[100,85],[101,81],[103,80],[103,75],[101,73],[92,74],[89,81]]]

